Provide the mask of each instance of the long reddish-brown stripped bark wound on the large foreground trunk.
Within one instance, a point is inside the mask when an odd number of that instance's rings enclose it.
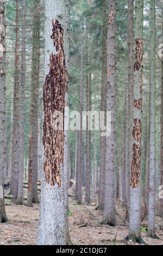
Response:
[[[58,20],[52,21],[53,30],[51,39],[54,42],[57,54],[51,54],[49,74],[43,86],[43,147],[45,162],[43,170],[46,182],[61,186],[60,165],[64,160],[64,129],[53,129],[53,113],[61,112],[64,122],[65,93],[67,90],[67,71],[63,48],[64,30]],[[63,125],[64,127],[64,125]]]

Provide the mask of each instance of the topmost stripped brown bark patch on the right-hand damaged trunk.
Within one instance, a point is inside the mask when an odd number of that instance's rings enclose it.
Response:
[[[134,70],[139,70],[143,66],[143,41],[141,39],[135,39],[136,53],[135,53],[135,64]]]

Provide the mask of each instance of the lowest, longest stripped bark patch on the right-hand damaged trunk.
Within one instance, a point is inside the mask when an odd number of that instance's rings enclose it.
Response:
[[[131,182],[130,185],[133,188],[139,186],[140,179],[140,167],[141,167],[141,148],[140,144],[133,144],[133,162],[131,166]]]

